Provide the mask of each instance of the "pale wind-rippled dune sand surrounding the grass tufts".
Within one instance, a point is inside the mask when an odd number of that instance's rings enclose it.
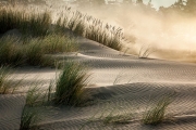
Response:
[[[44,130],[193,130],[196,128],[196,65],[161,60],[138,58],[99,43],[78,38],[81,51],[57,54],[56,58],[71,58],[89,65],[89,86],[95,103],[83,107],[49,106],[42,109],[38,122]],[[20,94],[0,95],[0,129],[20,128],[29,82],[49,84],[56,78],[56,68],[21,67],[14,77],[24,79]],[[35,80],[36,79],[36,80]],[[167,114],[174,120],[158,126],[145,126],[140,119],[147,106],[163,95],[175,93]],[[127,123],[105,125],[103,117],[112,113],[133,114]],[[102,115],[102,116],[101,116]],[[89,121],[90,120],[90,121]]]

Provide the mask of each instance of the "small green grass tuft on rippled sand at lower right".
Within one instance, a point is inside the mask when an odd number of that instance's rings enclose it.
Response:
[[[155,106],[150,107],[143,116],[145,125],[158,125],[166,119],[166,110],[171,104],[170,98],[161,99]]]

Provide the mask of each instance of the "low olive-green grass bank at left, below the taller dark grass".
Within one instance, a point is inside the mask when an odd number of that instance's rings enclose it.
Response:
[[[62,35],[48,35],[32,38],[24,43],[23,38],[4,36],[0,38],[0,65],[19,66],[23,64],[47,66],[45,54],[74,52],[78,50],[76,40]],[[51,61],[50,61],[51,62]]]

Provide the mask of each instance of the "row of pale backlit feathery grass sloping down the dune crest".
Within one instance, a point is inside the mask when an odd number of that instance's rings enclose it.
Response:
[[[66,12],[57,21],[59,29],[69,28],[76,35],[86,37],[109,48],[119,51],[122,49],[123,32],[121,28],[105,24],[100,20],[86,14],[84,15],[78,11],[71,11],[71,8],[65,9]]]

